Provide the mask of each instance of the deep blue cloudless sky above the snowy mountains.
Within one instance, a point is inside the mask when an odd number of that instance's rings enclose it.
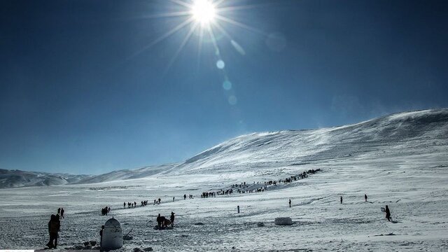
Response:
[[[221,15],[255,30],[217,20],[238,45],[214,29],[220,55],[208,37],[199,54],[195,33],[172,62],[190,25],[142,49],[188,18],[150,18],[176,3],[0,1],[0,168],[99,174],[448,107],[448,1],[223,6],[251,6]]]

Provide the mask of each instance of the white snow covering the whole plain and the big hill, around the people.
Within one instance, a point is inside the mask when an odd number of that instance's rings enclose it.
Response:
[[[342,127],[248,134],[163,169],[6,188],[0,190],[0,248],[43,248],[50,214],[64,207],[61,249],[99,241],[99,228],[114,216],[134,237],[122,251],[447,251],[447,137],[447,109],[398,113]],[[262,193],[234,189],[200,198],[235,183],[257,188],[257,182],[318,168],[323,172]],[[183,200],[184,194],[195,198]],[[162,204],[153,205],[159,197]],[[123,202],[141,200],[148,206],[123,209]],[[386,204],[393,223],[380,210]],[[101,216],[106,206],[111,213]],[[155,216],[171,211],[174,229],[153,230]],[[294,224],[274,225],[277,217]]]

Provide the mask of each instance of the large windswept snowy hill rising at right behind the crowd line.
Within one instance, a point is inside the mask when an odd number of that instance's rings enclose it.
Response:
[[[447,143],[448,109],[396,113],[342,127],[244,135],[186,160],[178,172],[222,173],[247,164],[262,169],[282,162],[302,165],[363,155],[384,146],[412,153],[415,148]]]

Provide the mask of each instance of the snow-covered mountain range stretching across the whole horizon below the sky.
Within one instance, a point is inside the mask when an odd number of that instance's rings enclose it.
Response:
[[[448,154],[448,109],[395,113],[362,123],[317,130],[285,130],[246,134],[195,155],[185,162],[124,169],[97,176],[47,174],[0,169],[0,188],[57,186],[141,179],[156,174],[210,174],[269,169],[342,160],[360,155],[390,157],[444,152]]]

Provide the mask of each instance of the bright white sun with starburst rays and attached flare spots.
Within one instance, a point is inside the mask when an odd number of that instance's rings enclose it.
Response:
[[[226,1],[226,0],[160,0],[164,3],[169,3],[169,8],[175,11],[154,13],[153,15],[148,15],[148,18],[173,18],[174,20],[179,20],[180,22],[165,31],[164,34],[155,38],[151,43],[144,46],[138,52],[135,52],[131,57],[139,55],[144,50],[151,48],[152,46],[161,43],[165,39],[173,36],[181,30],[186,30],[185,36],[181,39],[179,48],[174,52],[174,55],[169,60],[167,68],[165,71],[174,64],[176,58],[181,54],[183,48],[186,48],[190,42],[190,38],[197,37],[197,66],[199,67],[202,45],[208,43],[214,50],[214,63],[216,68],[223,71],[225,76],[226,90],[230,90],[232,85],[229,81],[227,73],[225,73],[225,67],[228,66],[228,62],[225,62],[220,50],[219,43],[223,39],[228,39],[230,44],[239,52],[241,55],[246,55],[244,48],[237,43],[235,38],[232,38],[230,33],[226,31],[229,26],[235,26],[247,31],[253,31],[262,36],[267,36],[264,32],[255,29],[249,25],[244,24],[244,22],[239,22],[232,18],[232,14],[239,10],[247,10],[251,8],[258,7],[257,4],[251,4],[250,6],[245,6],[241,4],[235,5],[238,1],[244,2],[244,0]],[[176,8],[173,8],[176,6]],[[193,36],[193,34],[197,36]],[[217,36],[216,36],[217,35]]]

